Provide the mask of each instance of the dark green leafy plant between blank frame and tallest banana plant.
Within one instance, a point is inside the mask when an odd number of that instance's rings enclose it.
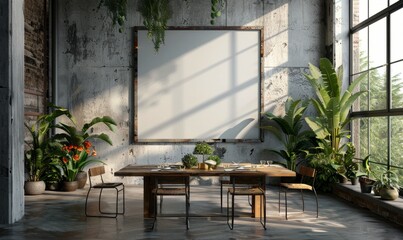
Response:
[[[281,150],[268,149],[268,151],[277,154],[287,162],[287,168],[295,171],[297,159],[313,146],[311,130],[303,130],[303,114],[307,109],[307,102],[302,100],[293,100],[288,98],[285,103],[285,115],[275,116],[273,113],[266,112],[264,117],[276,123],[277,126],[262,126],[263,129],[271,132],[281,143]]]

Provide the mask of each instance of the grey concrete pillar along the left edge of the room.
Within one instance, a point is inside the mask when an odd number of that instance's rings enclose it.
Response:
[[[24,215],[23,3],[0,2],[0,224]]]

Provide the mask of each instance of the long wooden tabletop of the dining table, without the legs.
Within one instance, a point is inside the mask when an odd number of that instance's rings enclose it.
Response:
[[[242,166],[242,165],[241,165]],[[261,166],[255,164],[243,165],[243,169],[236,165],[226,165],[212,170],[198,168],[179,169],[177,166],[158,168],[157,165],[128,165],[115,172],[115,176],[156,176],[156,175],[182,175],[191,176],[231,176],[248,174],[265,174],[269,177],[295,177],[296,173],[280,165]]]

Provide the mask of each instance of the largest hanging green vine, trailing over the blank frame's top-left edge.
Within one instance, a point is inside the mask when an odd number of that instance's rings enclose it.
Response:
[[[144,18],[147,36],[153,41],[154,49],[158,52],[160,45],[165,42],[165,30],[172,16],[169,0],[140,0],[138,11]]]

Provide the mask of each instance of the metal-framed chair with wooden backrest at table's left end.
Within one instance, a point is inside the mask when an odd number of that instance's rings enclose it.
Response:
[[[125,186],[121,182],[104,182],[102,175],[105,173],[105,167],[93,167],[88,170],[88,176],[90,180],[90,188],[88,189],[87,198],[85,199],[85,215],[87,217],[109,217],[109,218],[116,218],[118,214],[125,213]],[[95,179],[98,178],[98,179]],[[93,182],[94,181],[94,182]],[[95,183],[97,182],[97,183]],[[100,189],[99,197],[98,197],[98,215],[90,215],[88,210],[88,197],[92,189]],[[115,212],[105,212],[102,211],[101,208],[101,199],[102,199],[102,192],[104,189],[115,189],[116,190],[116,211]],[[122,211],[119,212],[119,193],[123,193],[123,207]]]

